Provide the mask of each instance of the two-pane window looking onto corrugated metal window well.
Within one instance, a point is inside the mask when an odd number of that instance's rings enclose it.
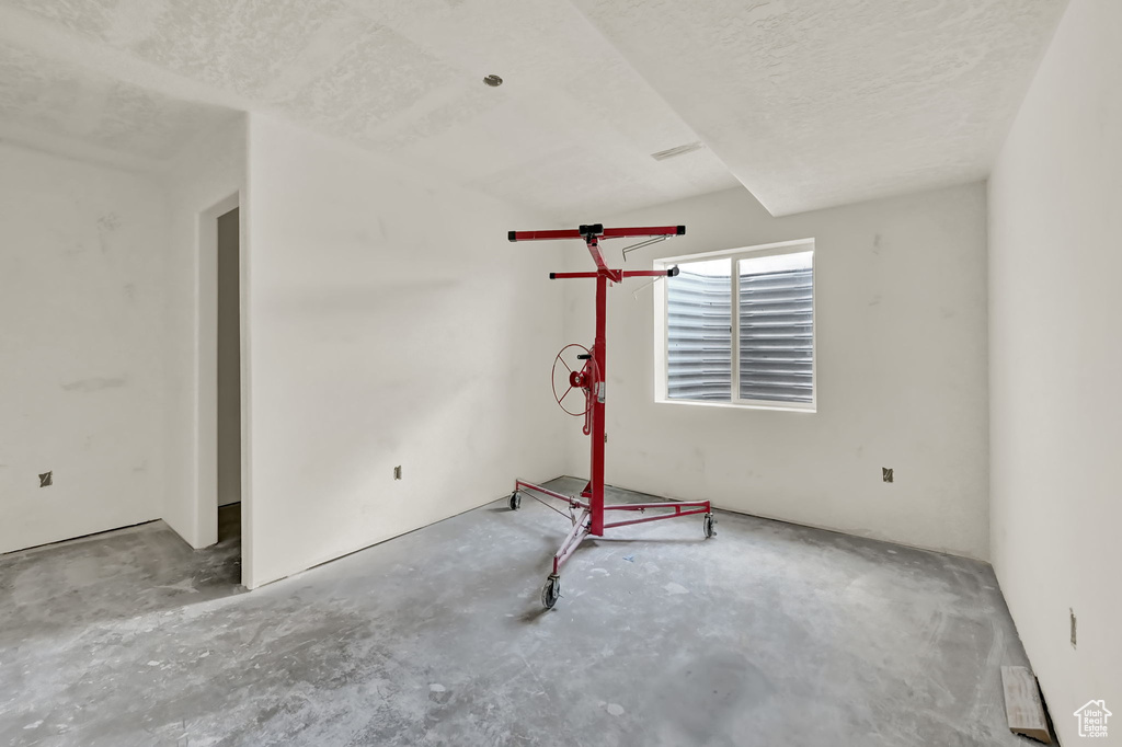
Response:
[[[660,402],[815,409],[813,240],[662,259]],[[734,304],[735,299],[735,304]]]

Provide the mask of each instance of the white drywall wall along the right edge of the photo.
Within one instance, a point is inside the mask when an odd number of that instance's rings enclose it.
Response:
[[[993,564],[1064,744],[1122,713],[1119,39],[1122,3],[1073,0],[990,179]]]

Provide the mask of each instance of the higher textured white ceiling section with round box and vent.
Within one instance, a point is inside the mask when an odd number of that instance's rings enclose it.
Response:
[[[707,149],[650,157],[697,135],[568,2],[0,0],[0,29],[28,31],[11,44],[38,37],[66,54],[73,37],[117,54],[96,55],[107,73],[147,83],[126,70],[139,62],[165,73],[150,74],[160,90],[188,95],[185,82],[201,84],[214,101],[280,113],[569,222],[736,185]],[[485,86],[489,73],[506,83]],[[34,90],[0,90],[0,108]],[[55,128],[73,129],[73,112],[55,113]],[[47,117],[40,125],[52,127]]]

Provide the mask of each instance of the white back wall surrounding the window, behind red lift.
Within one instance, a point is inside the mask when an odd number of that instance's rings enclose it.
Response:
[[[604,223],[686,224],[684,237],[631,253],[637,269],[813,238],[818,325],[817,413],[655,404],[652,290],[633,297],[641,279],[610,288],[609,483],[986,557],[983,185],[779,219],[737,188]],[[622,246],[605,246],[619,266]],[[570,268],[591,267],[583,249],[572,257]],[[568,341],[590,344],[592,283],[558,283]],[[570,473],[585,477],[576,418],[569,433]],[[881,480],[882,467],[895,482]]]

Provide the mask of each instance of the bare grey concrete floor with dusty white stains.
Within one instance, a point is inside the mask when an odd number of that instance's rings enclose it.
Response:
[[[568,522],[530,499],[252,593],[236,536],[158,523],[0,557],[0,744],[1027,744],[988,565],[718,519],[587,543],[552,611]]]

